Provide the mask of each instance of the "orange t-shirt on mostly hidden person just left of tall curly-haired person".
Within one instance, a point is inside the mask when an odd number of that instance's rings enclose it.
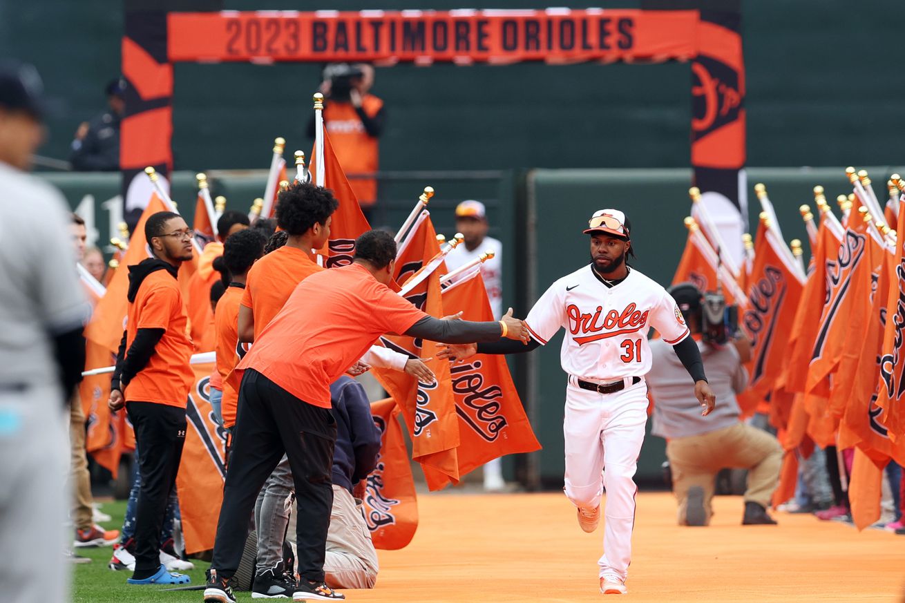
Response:
[[[243,289],[240,287],[227,287],[223,297],[217,302],[214,311],[214,324],[217,333],[217,370],[216,373],[223,379],[224,397],[220,403],[224,417],[224,426],[235,425],[235,410],[239,399],[239,382],[242,374],[233,371],[235,365],[245,355],[243,346],[239,343],[239,304],[242,301]]]

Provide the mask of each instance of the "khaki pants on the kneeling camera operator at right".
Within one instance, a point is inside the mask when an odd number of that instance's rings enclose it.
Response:
[[[783,451],[766,431],[738,423],[700,436],[677,437],[666,445],[672,470],[672,491],[679,501],[679,523],[685,523],[688,490],[704,491],[704,514],[710,523],[710,499],[720,469],[748,469],[746,503],[767,508],[779,481]]]

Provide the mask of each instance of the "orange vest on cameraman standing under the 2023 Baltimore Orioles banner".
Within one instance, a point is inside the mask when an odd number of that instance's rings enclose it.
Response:
[[[384,106],[384,101],[373,94],[366,94],[361,100],[361,106],[368,116],[374,117]],[[371,174],[377,171],[377,139],[367,135],[351,102],[329,101],[324,107],[324,128],[327,129],[333,152],[337,154],[343,171],[347,174]],[[348,183],[361,205],[370,206],[377,200],[374,178],[349,178]]]

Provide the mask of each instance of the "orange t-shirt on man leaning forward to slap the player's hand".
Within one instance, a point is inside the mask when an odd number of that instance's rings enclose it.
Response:
[[[255,369],[293,396],[330,407],[330,384],[384,333],[404,333],[427,314],[360,264],[305,279],[256,337],[239,369]]]

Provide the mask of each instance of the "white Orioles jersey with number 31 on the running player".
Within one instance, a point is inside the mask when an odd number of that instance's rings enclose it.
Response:
[[[651,369],[651,327],[670,345],[689,335],[679,306],[662,286],[632,269],[623,282],[607,287],[590,264],[550,285],[525,322],[543,344],[565,329],[563,370],[595,381],[643,377]]]

